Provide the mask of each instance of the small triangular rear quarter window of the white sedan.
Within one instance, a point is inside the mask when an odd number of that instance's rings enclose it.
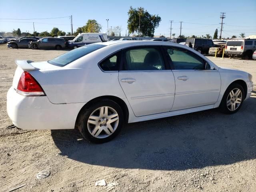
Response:
[[[120,63],[119,61],[120,51],[105,58],[102,62],[99,63],[99,66],[103,71],[118,71]]]

